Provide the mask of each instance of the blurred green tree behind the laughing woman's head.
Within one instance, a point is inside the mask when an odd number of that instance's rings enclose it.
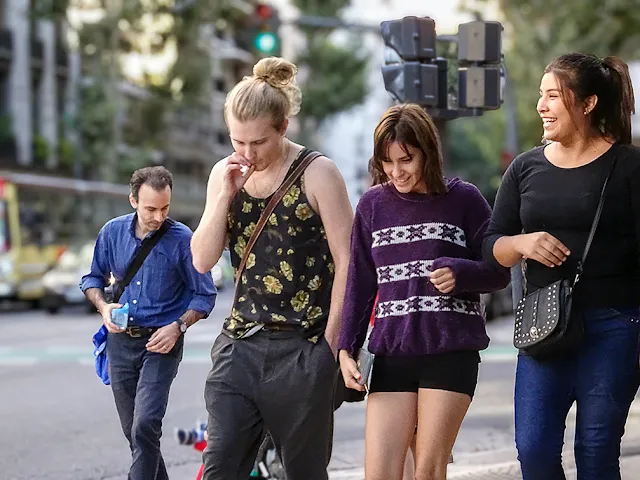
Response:
[[[544,67],[563,53],[640,58],[640,10],[628,0],[480,0],[499,6],[507,68],[515,89],[521,149],[540,144],[535,113]]]

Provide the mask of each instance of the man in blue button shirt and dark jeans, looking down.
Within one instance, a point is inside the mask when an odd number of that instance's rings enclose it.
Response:
[[[193,267],[191,230],[167,218],[172,187],[171,173],[164,167],[133,173],[129,200],[135,213],[102,227],[91,272],[82,277],[80,285],[109,331],[111,388],[133,456],[129,480],[168,479],[160,436],[169,390],[182,359],[183,334],[209,315],[216,299],[211,274],[200,274]],[[142,240],[165,221],[171,226],[125,289],[120,303],[107,303],[103,289],[111,275],[121,281]],[[122,329],[111,321],[111,311],[126,303],[129,319],[127,328]]]

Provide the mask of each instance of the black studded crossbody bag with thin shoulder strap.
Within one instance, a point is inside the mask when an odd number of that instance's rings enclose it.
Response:
[[[572,296],[582,276],[584,262],[600,222],[607,184],[616,160],[617,157],[614,157],[609,174],[602,186],[598,209],[573,282],[568,279],[558,280],[527,295],[525,274],[523,282],[525,296],[516,307],[513,345],[527,355],[543,357],[562,354],[577,347],[582,340],[584,334],[582,319],[571,311]]]

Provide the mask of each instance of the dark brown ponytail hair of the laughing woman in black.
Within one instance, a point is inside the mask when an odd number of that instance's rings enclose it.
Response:
[[[588,114],[589,125],[605,137],[631,143],[631,115],[635,113],[629,67],[618,57],[599,59],[584,53],[555,58],[544,73],[552,73],[561,85],[561,97],[569,109],[588,97],[598,98]],[[571,95],[573,98],[571,98]]]

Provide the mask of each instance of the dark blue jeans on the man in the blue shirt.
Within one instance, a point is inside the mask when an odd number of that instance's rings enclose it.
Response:
[[[182,360],[183,339],[167,354],[147,351],[149,337],[110,333],[107,339],[111,390],[132,453],[129,480],[169,478],[160,437],[169,389]]]

